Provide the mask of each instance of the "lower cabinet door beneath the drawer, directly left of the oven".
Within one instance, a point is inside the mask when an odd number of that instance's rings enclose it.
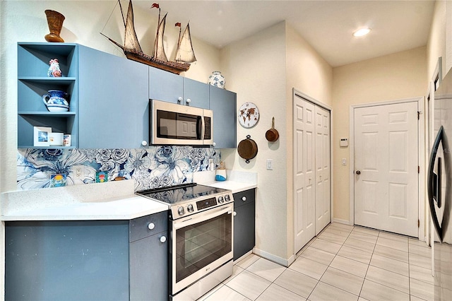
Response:
[[[168,300],[167,232],[130,244],[130,300]]]

